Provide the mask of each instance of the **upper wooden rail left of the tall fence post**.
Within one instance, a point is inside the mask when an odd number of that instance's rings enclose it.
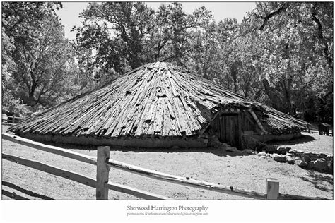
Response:
[[[88,164],[97,164],[97,159],[95,157],[90,157],[88,155],[83,155],[78,152],[73,152],[71,150],[66,150],[60,147],[52,146],[52,145],[45,145],[42,143],[34,142],[33,140],[28,140],[26,138],[22,138],[16,135],[11,135],[8,133],[2,133],[2,139],[9,140],[13,143],[18,143],[20,145],[26,145],[29,147],[33,147],[37,150],[42,150],[45,152],[50,152],[53,154],[61,155],[63,157],[68,157],[70,159],[76,159],[81,162],[86,162]]]

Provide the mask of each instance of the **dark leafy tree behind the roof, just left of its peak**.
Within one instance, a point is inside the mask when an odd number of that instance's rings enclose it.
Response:
[[[76,30],[79,64],[95,79],[113,78],[143,64],[142,40],[153,26],[153,10],[143,3],[90,3]]]

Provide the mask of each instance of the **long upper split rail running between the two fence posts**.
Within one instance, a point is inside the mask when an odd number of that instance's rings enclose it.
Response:
[[[146,176],[153,179],[158,179],[160,181],[167,181],[170,183],[177,183],[185,186],[192,186],[195,188],[206,189],[208,191],[217,191],[221,193],[227,193],[230,195],[237,195],[246,198],[253,199],[265,199],[265,193],[257,193],[255,191],[246,191],[240,188],[233,188],[233,186],[222,186],[214,183],[208,183],[206,181],[199,181],[194,179],[189,179],[188,177],[174,176],[170,174],[164,174],[158,171],[153,171],[151,169],[144,169],[141,167],[137,167],[131,164],[126,164],[124,162],[115,161],[109,159],[107,161],[107,165],[110,167],[115,167],[117,169],[122,169],[125,171],[129,171],[133,174],[139,174],[141,176]]]

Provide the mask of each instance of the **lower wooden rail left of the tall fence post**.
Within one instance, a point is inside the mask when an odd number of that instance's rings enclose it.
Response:
[[[2,153],[2,159],[6,159],[11,162],[16,162],[25,167],[30,167],[33,169],[44,171],[48,174],[53,174],[55,176],[61,176],[61,177],[64,177],[65,179],[70,179],[71,181],[76,181],[78,183],[82,183],[86,186],[90,186],[93,188],[95,188],[97,185],[97,181],[95,181],[94,179],[90,179],[87,176],[82,176],[80,174],[77,174],[77,173],[74,173],[72,171],[68,171],[65,169],[60,169],[58,167],[53,167],[53,166],[44,164],[42,162],[37,162],[37,161],[30,160],[30,159],[23,159],[21,157],[8,155],[5,153]]]

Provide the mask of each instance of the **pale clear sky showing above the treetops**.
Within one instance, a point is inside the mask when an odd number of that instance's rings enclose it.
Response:
[[[64,25],[65,37],[74,40],[75,33],[70,32],[74,25],[80,25],[79,14],[88,6],[88,2],[62,2],[63,8],[57,11],[61,23]],[[168,2],[146,2],[151,8],[157,9],[161,4]],[[254,2],[182,2],[184,11],[192,13],[194,9],[205,6],[210,10],[216,21],[224,18],[236,18],[240,23],[247,12],[256,8]]]

